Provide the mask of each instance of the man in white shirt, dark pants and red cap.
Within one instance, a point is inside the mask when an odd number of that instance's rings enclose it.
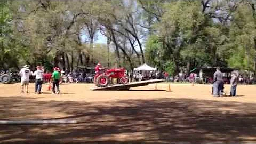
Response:
[[[35,82],[35,94],[41,94],[42,84],[43,84],[43,70],[40,66],[36,67],[33,76],[36,76]]]

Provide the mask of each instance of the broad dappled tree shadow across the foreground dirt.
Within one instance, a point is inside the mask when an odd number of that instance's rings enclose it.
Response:
[[[256,142],[256,105],[194,99],[109,103],[1,97],[0,119],[77,119],[69,125],[0,125],[0,143]]]

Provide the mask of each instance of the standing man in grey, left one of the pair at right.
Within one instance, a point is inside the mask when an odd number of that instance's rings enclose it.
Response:
[[[221,95],[221,91],[223,89],[223,77],[220,71],[220,67],[217,67],[214,75],[213,75],[213,96],[219,97]]]

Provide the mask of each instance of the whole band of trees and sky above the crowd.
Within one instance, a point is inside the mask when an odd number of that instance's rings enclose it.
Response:
[[[183,68],[256,73],[255,1],[1,1],[0,67]],[[105,37],[106,42],[97,43]]]

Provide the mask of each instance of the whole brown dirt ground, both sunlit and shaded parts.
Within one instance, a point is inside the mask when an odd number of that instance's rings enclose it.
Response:
[[[256,143],[256,86],[214,98],[211,85],[166,83],[130,91],[62,84],[61,94],[20,94],[0,84],[0,119],[76,119],[66,125],[0,125],[0,143]],[[225,91],[229,93],[229,85]]]

